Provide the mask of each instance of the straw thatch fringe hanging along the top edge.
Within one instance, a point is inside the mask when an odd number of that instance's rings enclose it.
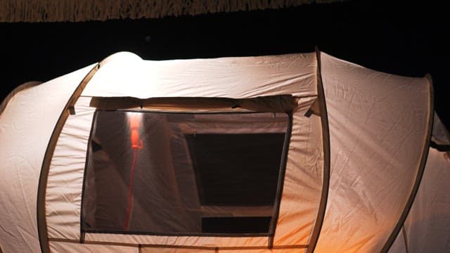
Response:
[[[338,0],[0,0],[0,22],[162,18],[335,1]]]

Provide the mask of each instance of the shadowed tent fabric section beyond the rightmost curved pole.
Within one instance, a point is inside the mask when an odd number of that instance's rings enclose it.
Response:
[[[450,251],[450,191],[446,190],[449,181],[448,153],[430,148],[416,200],[404,224],[409,253]],[[392,248],[390,252],[403,250]]]

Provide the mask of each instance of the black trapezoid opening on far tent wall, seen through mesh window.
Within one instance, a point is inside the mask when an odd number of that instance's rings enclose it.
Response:
[[[284,134],[190,134],[186,141],[202,205],[274,205]]]

